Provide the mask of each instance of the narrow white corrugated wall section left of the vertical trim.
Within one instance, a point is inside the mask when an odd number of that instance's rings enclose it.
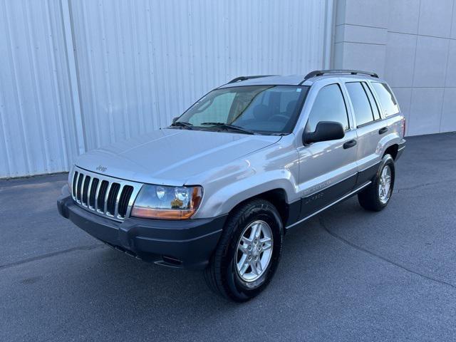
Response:
[[[68,170],[76,155],[57,1],[0,1],[0,177]]]

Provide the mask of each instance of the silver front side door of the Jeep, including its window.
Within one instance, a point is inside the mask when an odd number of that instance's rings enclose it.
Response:
[[[309,95],[308,100],[314,98],[314,101],[304,113],[307,115],[304,134],[314,132],[320,121],[334,121],[343,125],[345,137],[299,144],[300,219],[351,192],[357,176],[356,130],[349,119],[351,115],[342,87],[338,83],[326,84]]]

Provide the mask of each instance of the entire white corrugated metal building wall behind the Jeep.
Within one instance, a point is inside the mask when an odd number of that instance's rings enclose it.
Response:
[[[236,76],[327,66],[331,4],[1,1],[0,177],[68,170],[78,136],[92,150],[169,125]]]

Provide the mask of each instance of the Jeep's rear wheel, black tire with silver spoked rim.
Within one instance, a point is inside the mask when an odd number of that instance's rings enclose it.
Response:
[[[385,173],[388,175],[387,169],[389,170],[390,175],[390,185],[388,190],[383,189],[382,192],[382,177]],[[393,195],[394,180],[395,168],[393,157],[391,157],[391,155],[384,155],[380,162],[380,167],[378,167],[378,171],[373,178],[372,184],[358,193],[358,202],[361,204],[361,207],[373,212],[380,212],[380,210],[385,209],[390,202],[391,195]]]

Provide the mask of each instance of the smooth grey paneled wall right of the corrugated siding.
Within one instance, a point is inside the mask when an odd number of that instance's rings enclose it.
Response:
[[[378,71],[407,135],[455,130],[456,0],[340,0],[336,18],[333,66]]]

